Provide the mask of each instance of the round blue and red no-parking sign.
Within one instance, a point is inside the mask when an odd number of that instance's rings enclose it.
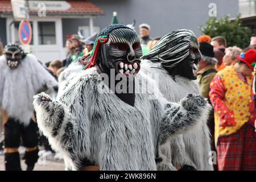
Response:
[[[32,28],[30,22],[22,21],[19,23],[19,41],[22,44],[30,44],[32,38]]]

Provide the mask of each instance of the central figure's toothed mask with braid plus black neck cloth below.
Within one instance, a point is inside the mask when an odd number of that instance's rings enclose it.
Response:
[[[102,76],[105,84],[122,101],[134,106],[134,76],[141,68],[141,60],[139,59],[141,56],[142,48],[136,32],[122,24],[112,24],[98,34],[94,43],[92,58],[84,69],[96,64],[98,73],[106,73],[108,75],[108,80]],[[114,73],[114,77],[119,74],[118,76],[121,76],[121,80],[113,80],[112,73]],[[120,82],[124,86],[119,84]],[[116,87],[118,92],[115,90]],[[119,89],[124,92],[120,93]]]

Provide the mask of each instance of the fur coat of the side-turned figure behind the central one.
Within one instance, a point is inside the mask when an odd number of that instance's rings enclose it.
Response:
[[[183,76],[176,75],[175,78],[168,75],[160,63],[152,63],[142,60],[141,72],[148,77],[158,79],[159,90],[170,102],[178,102],[187,94],[200,94],[200,86],[197,81],[189,80]],[[159,169],[176,170],[174,166],[184,164],[195,167],[197,170],[213,170],[209,164],[210,134],[207,126],[208,117],[201,118],[202,125],[194,127],[192,132],[172,138],[161,147],[164,159]]]

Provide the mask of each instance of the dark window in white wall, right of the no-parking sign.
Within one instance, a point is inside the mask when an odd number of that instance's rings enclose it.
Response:
[[[56,44],[55,22],[38,22],[38,44]]]

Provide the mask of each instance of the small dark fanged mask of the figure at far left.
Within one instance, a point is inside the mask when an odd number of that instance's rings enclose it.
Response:
[[[15,69],[19,66],[20,62],[26,54],[18,44],[9,44],[5,47],[3,54],[6,57],[6,63],[11,69]]]

